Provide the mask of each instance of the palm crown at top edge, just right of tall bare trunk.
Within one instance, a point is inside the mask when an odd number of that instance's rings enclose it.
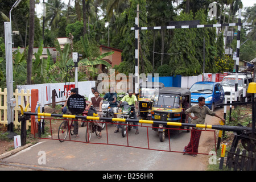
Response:
[[[57,23],[60,22],[65,7],[65,3],[61,2],[61,0],[49,0],[46,3],[46,22],[49,21],[48,25],[51,27],[51,30],[57,28]]]

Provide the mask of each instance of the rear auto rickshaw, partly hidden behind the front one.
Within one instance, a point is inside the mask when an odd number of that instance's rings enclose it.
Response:
[[[150,110],[152,108],[152,100],[154,92],[164,88],[164,84],[161,82],[142,82],[139,84],[139,116],[143,119],[151,120]]]

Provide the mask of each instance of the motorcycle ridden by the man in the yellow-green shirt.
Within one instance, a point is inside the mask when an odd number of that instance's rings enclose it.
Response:
[[[122,102],[121,104],[122,107],[122,114],[119,118],[123,119],[134,119],[133,114],[135,112],[135,106],[134,105],[129,105],[127,102]],[[133,126],[133,122],[125,122],[125,125],[122,125],[122,136],[125,137],[128,131],[131,130]]]

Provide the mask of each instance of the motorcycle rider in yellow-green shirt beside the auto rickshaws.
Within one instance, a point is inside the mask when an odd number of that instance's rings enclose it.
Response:
[[[120,102],[120,105],[122,104],[122,102],[128,102],[129,105],[135,105],[136,109],[138,109],[138,100],[137,100],[137,97],[133,94],[133,91],[129,90],[128,92],[128,95],[126,95],[125,97],[122,98],[121,102]],[[134,119],[137,119],[137,115],[134,111],[133,113],[133,117]],[[133,128],[136,129],[136,132],[135,134],[139,134],[139,127],[137,125],[137,123],[133,122]],[[117,130],[114,131],[114,133],[118,133],[119,132],[119,128],[121,128],[120,125],[117,125]]]

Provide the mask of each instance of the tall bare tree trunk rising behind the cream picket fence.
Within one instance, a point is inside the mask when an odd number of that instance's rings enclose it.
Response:
[[[27,85],[31,85],[34,32],[35,32],[35,0],[30,0],[30,38],[29,38],[30,40],[28,43],[28,57],[27,57]]]

